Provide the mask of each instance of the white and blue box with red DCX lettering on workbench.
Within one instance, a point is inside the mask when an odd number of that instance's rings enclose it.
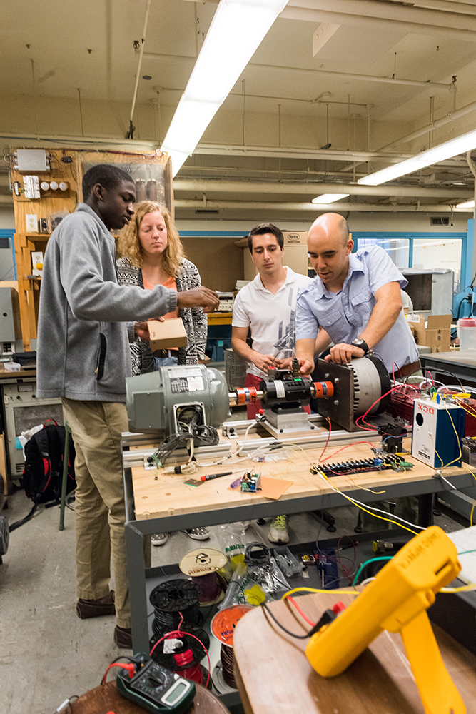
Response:
[[[413,409],[412,456],[432,468],[461,466],[465,410],[430,399],[415,399]]]

